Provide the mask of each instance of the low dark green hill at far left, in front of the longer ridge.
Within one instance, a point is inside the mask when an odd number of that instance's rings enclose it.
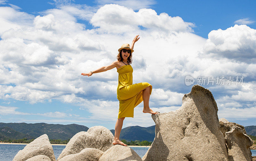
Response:
[[[33,136],[30,136],[28,134],[23,134],[20,133],[16,130],[13,130],[11,127],[1,127],[0,128],[0,140],[5,140],[5,139],[23,139],[27,138],[29,139],[36,139]]]

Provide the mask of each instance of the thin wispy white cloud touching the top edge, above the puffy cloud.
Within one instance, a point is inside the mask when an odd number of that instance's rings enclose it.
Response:
[[[96,0],[96,2],[99,4],[118,4],[126,8],[132,8],[133,10],[149,8],[156,4],[154,0]]]

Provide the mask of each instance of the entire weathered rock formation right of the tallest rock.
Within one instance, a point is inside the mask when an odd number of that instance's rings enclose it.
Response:
[[[246,135],[242,125],[229,122],[227,119],[219,120],[220,131],[225,136],[229,161],[252,161],[250,147],[252,139]]]

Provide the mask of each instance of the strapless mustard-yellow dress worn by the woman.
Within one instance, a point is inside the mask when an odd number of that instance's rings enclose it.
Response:
[[[117,69],[118,72],[118,87],[117,99],[119,100],[118,119],[122,117],[132,117],[133,110],[138,104],[143,101],[142,89],[150,86],[150,95],[152,85],[148,82],[132,84],[132,66],[124,65]],[[142,110],[142,109],[141,109]]]

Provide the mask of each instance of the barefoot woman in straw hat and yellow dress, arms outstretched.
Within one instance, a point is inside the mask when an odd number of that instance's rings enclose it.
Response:
[[[90,73],[82,73],[82,75],[91,76],[93,73],[105,72],[107,70],[116,67],[118,72],[118,87],[117,87],[117,99],[119,100],[119,112],[118,118],[115,126],[115,138],[113,144],[120,144],[127,146],[119,140],[120,132],[123,126],[123,121],[125,117],[133,118],[133,110],[142,101],[144,103],[143,111],[144,113],[157,114],[157,112],[152,111],[149,108],[149,96],[151,95],[152,86],[147,82],[132,84],[132,52],[134,43],[140,38],[137,35],[131,44],[123,44],[120,49],[118,49],[117,60],[108,66],[103,66]]]

